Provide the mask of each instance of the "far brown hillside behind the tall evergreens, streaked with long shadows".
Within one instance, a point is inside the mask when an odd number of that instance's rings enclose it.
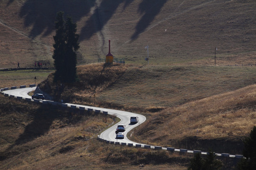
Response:
[[[2,0],[0,68],[53,63],[57,11],[73,17],[79,64],[111,53],[128,63],[217,65],[255,63],[255,0]]]

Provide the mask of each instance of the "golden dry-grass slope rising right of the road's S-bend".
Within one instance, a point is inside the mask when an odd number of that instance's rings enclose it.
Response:
[[[256,85],[250,85],[162,110],[136,130],[134,136],[139,141],[176,147],[176,141],[188,137],[241,141],[256,125],[255,109]]]

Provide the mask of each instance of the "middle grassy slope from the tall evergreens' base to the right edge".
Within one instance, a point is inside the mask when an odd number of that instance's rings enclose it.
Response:
[[[166,108],[256,83],[256,67],[90,64],[77,68],[80,82],[64,85],[67,102],[137,111]],[[39,86],[54,95],[52,76]]]

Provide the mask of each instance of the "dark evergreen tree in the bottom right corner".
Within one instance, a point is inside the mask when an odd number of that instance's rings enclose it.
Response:
[[[238,164],[239,170],[256,170],[256,126],[251,130],[250,136],[244,140],[244,157]]]

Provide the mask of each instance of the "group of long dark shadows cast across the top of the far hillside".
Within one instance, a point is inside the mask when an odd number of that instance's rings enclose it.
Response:
[[[27,0],[19,11],[19,16],[25,18],[24,26],[32,26],[29,34],[31,38],[43,34],[44,36],[54,31],[56,13],[64,11],[65,15],[73,18],[73,22],[81,20],[88,15],[92,7],[94,13],[86,21],[80,33],[80,41],[90,39],[91,36],[102,30],[104,25],[110,20],[116,9],[124,3],[123,9],[128,7],[134,0],[102,0],[100,4],[96,0]],[[139,4],[138,12],[144,14],[136,26],[136,32],[131,39],[137,39],[138,35],[145,31],[155,16],[160,12],[167,0],[143,0]],[[9,0],[8,4],[14,0]],[[101,34],[104,41],[104,36]],[[103,44],[104,45],[104,44]]]

